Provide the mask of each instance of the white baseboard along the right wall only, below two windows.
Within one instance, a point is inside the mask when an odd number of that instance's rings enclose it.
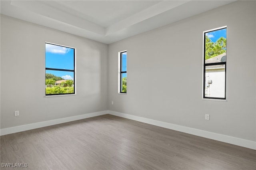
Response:
[[[184,127],[184,126],[175,125],[175,124],[172,124],[172,123],[156,121],[156,120],[153,120],[153,119],[147,119],[147,118],[144,118],[144,117],[128,115],[128,114],[125,114],[125,113],[119,113],[119,112],[115,112],[115,111],[108,111],[108,113],[110,115],[115,115],[115,116],[118,116],[118,117],[131,119],[131,120],[134,120],[134,121],[148,123],[150,125],[156,125],[158,127],[164,127],[164,128],[168,128],[168,129],[172,129],[172,130],[177,130],[177,131],[180,131],[180,132],[185,132],[185,133],[188,133],[188,134],[194,134],[196,136],[201,136],[201,137],[204,137],[204,138],[210,138],[210,139],[213,139],[213,140],[218,140],[218,141],[221,141],[221,142],[226,142],[226,143],[230,143],[230,144],[234,144],[234,145],[238,145],[238,146],[243,146],[243,147],[246,147],[246,148],[256,150],[256,142],[251,141],[251,140],[236,138],[236,137],[227,136],[227,135],[224,135],[224,134],[208,132],[208,131],[199,130],[199,129],[196,129],[196,128]]]

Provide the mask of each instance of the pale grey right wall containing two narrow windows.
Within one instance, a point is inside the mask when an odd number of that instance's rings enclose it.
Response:
[[[110,44],[108,109],[256,141],[255,7],[234,2]],[[203,31],[221,26],[227,26],[227,101],[202,100]],[[118,95],[118,51],[126,49],[127,95]]]

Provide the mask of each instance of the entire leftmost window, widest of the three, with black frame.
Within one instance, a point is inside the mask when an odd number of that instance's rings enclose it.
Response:
[[[45,94],[75,94],[75,48],[45,43]]]

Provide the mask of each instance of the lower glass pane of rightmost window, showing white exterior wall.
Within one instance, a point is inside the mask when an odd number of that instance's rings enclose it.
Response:
[[[225,65],[205,67],[205,96],[225,98]]]

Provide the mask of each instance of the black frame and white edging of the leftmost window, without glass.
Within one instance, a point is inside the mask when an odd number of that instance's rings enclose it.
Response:
[[[45,42],[45,43],[44,43],[45,47],[46,47],[46,44],[57,45],[57,46],[60,46],[60,47],[67,47],[67,48],[72,48],[72,49],[74,49],[74,56],[73,56],[73,60],[74,60],[74,70],[72,70],[72,69],[58,69],[58,68],[49,68],[49,67],[46,67],[46,49],[45,49],[45,75],[46,75],[46,70],[53,70],[53,71],[69,71],[69,72],[73,72],[73,73],[74,73],[74,77],[73,77],[74,93],[46,94],[46,88],[45,88],[45,96],[46,96],[46,97],[54,97],[54,96],[76,95],[76,48],[74,48],[74,47],[69,47],[69,46],[66,46],[66,45],[60,45],[60,44],[56,44],[56,43],[50,43],[50,42]]]

